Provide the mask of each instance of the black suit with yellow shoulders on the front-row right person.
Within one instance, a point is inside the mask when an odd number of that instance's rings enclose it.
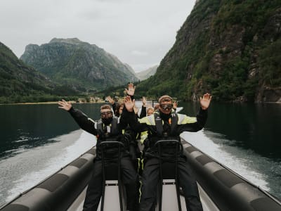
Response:
[[[173,114],[173,116],[178,118],[178,114]],[[156,141],[164,138],[161,134],[159,135],[156,123],[150,124],[148,119],[145,119],[152,117],[144,117],[141,120],[137,120],[137,118],[134,117],[134,113],[128,111],[123,113],[123,117],[129,122],[130,127],[136,130],[136,132],[148,131],[148,143],[145,144],[147,150],[145,152],[145,165],[142,175],[140,211],[153,210],[155,207],[157,184],[159,181],[159,154],[157,148],[153,148],[153,145]],[[168,138],[170,136],[171,139],[179,140],[179,135],[182,132],[197,132],[204,127],[207,120],[207,110],[202,110],[200,108],[200,112],[197,114],[195,121],[184,124],[178,124],[176,120],[174,120],[174,122],[171,121],[173,120],[171,115],[170,118],[166,120],[161,119],[159,114],[154,114],[153,118],[154,120],[157,118],[160,120],[161,123],[159,124],[162,124],[163,134],[168,134]],[[169,148],[166,149],[166,153],[169,153]],[[183,188],[187,210],[203,210],[196,179],[192,174],[192,170],[186,162],[183,153],[178,156],[178,182],[179,186]]]

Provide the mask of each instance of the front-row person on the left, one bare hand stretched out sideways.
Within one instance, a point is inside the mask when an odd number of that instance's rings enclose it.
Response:
[[[100,108],[101,119],[93,121],[78,109],[74,109],[71,103],[59,101],[59,108],[67,110],[74,120],[79,124],[81,129],[89,132],[97,137],[96,158],[93,161],[93,174],[86,191],[84,200],[84,211],[93,211],[98,209],[98,203],[103,190],[103,171],[101,160],[100,143],[103,141],[120,141],[124,143],[125,150],[122,151],[121,158],[121,176],[122,182],[126,188],[127,210],[138,210],[138,173],[133,164],[133,160],[129,155],[131,134],[122,134],[122,130],[126,129],[127,124],[113,117],[111,106],[103,105]],[[111,146],[106,148],[106,157],[117,158],[118,147]],[[105,165],[107,162],[105,160]]]

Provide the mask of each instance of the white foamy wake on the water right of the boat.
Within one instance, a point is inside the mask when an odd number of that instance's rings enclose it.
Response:
[[[240,174],[252,184],[270,191],[267,181],[268,176],[259,170],[265,165],[270,165],[270,161],[266,158],[257,155],[253,151],[230,146],[226,144],[229,140],[224,139],[223,135],[214,132],[204,132],[204,130],[195,133],[184,132],[181,136],[200,151]]]

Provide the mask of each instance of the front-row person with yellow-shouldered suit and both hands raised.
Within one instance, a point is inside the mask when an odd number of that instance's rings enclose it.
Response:
[[[204,94],[200,98],[201,108],[197,117],[188,117],[172,113],[172,98],[162,96],[159,98],[159,113],[155,112],[153,115],[138,120],[133,113],[134,101],[131,101],[129,96],[126,97],[124,101],[126,110],[124,110],[122,116],[129,123],[131,129],[136,132],[148,132],[147,143],[145,143],[147,150],[142,174],[140,211],[155,210],[155,198],[159,181],[159,152],[154,144],[162,139],[180,141],[179,135],[182,132],[197,132],[202,129],[207,120],[207,108],[210,102],[211,96]],[[174,149],[171,150],[171,147],[162,148],[162,155],[166,155],[167,158],[173,153]],[[187,210],[203,210],[195,177],[182,151],[179,151],[178,155],[178,183],[183,188]]]

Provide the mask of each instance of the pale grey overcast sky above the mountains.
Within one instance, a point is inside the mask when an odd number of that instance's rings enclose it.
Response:
[[[54,37],[96,44],[136,72],[158,65],[195,0],[0,0],[0,41],[18,58]]]

